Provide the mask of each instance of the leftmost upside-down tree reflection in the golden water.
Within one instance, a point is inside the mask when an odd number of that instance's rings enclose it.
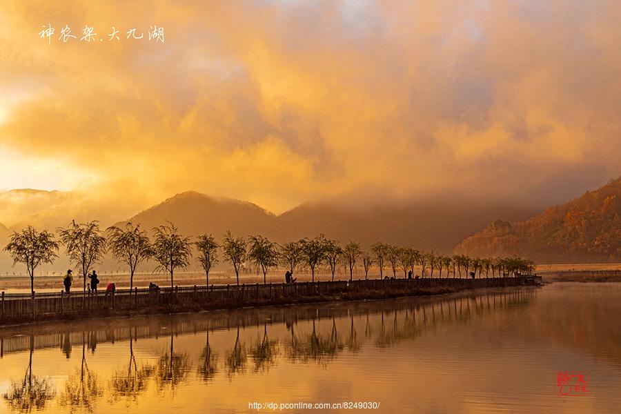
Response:
[[[34,335],[30,335],[30,355],[28,368],[22,381],[11,380],[8,391],[3,395],[11,411],[31,413],[42,410],[48,400],[55,397],[56,391],[47,377],[32,375],[32,353],[34,351]]]

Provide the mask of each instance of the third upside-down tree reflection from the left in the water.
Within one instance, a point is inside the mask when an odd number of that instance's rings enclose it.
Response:
[[[132,330],[130,330],[130,359],[127,369],[122,368],[112,373],[112,378],[110,379],[110,397],[112,400],[117,400],[119,397],[136,400],[145,391],[147,380],[155,371],[155,367],[152,365],[142,365],[138,368],[133,348],[135,340],[135,336],[132,335]]]

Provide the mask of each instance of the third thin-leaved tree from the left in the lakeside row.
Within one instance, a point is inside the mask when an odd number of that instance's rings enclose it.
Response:
[[[130,268],[130,289],[134,288],[134,273],[139,264],[151,257],[153,251],[149,237],[140,225],[131,223],[125,229],[110,226],[108,231],[108,246],[118,262],[127,264]]]

